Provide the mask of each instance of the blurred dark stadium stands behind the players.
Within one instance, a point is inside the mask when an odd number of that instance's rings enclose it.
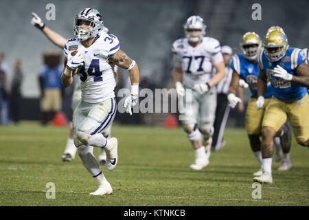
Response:
[[[47,3],[56,5],[55,21],[45,19]],[[262,6],[261,21],[251,19],[253,3],[260,3]],[[192,14],[203,17],[207,24],[207,36],[218,39],[221,45],[230,45],[234,52],[240,52],[239,43],[244,32],[254,31],[263,38],[271,25],[282,26],[293,47],[308,47],[309,42],[309,2],[306,0],[1,0],[0,52],[5,53],[5,62],[10,67],[8,79],[12,77],[16,59],[20,58],[23,66],[22,120],[40,118],[37,75],[43,64],[43,52],[61,52],[30,24],[31,13],[36,12],[49,28],[71,38],[73,17],[82,8],[96,8],[101,12],[104,25],[119,38],[121,49],[137,61],[141,78],[151,78],[156,88],[169,87],[172,69],[170,46],[174,40],[183,37],[183,23]],[[128,77],[126,71],[121,74],[119,87],[126,85]],[[71,92],[71,88],[66,89],[62,104],[62,110],[68,118],[71,117]],[[248,100],[248,90],[244,98],[245,101]],[[166,114],[156,114],[155,123],[161,124],[165,116]],[[136,117],[135,114],[131,119],[122,118],[118,113],[116,120],[135,123],[138,122]],[[243,126],[244,113],[232,111],[227,125]]]

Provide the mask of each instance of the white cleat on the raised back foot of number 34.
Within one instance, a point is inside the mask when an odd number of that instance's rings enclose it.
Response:
[[[118,141],[116,137],[111,137],[107,141],[107,145],[105,147],[106,153],[106,168],[108,170],[113,170],[118,162]]]

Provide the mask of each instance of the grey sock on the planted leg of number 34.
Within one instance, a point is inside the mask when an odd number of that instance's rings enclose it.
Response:
[[[88,170],[88,172],[95,177],[100,174],[100,164],[98,159],[93,155],[93,146],[78,146],[78,155],[82,159],[82,164]]]

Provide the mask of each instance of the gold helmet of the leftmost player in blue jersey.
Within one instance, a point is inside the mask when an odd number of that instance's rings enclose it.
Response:
[[[254,45],[256,45],[254,47]],[[242,36],[242,42],[240,43],[240,48],[242,50],[242,55],[249,61],[255,61],[258,57],[258,51],[262,47],[262,41],[260,36],[255,32],[247,32]]]

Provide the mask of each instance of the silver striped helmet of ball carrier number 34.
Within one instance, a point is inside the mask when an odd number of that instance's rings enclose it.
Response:
[[[93,8],[85,8],[75,17],[73,34],[80,41],[86,41],[99,34],[104,28],[104,22],[98,10]]]

